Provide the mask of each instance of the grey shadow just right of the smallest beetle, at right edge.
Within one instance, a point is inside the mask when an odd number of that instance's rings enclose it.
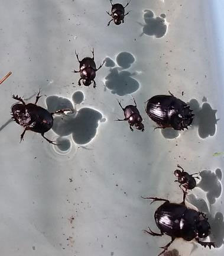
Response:
[[[199,184],[197,184],[197,187],[206,191],[207,200],[210,204],[214,204],[216,198],[220,197],[220,194],[222,193],[222,185],[220,183],[220,180],[222,179],[222,171],[220,169],[216,169],[215,172],[204,170],[200,172],[200,176],[202,178]]]

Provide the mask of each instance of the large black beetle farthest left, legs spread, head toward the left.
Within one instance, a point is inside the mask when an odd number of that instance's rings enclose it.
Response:
[[[18,100],[21,103],[15,103],[12,105],[11,111],[12,111],[12,119],[14,119],[18,124],[23,126],[25,128],[24,132],[20,136],[20,142],[23,139],[25,132],[27,130],[31,130],[33,132],[41,133],[41,135],[44,137],[44,133],[46,133],[48,130],[51,129],[53,126],[53,114],[60,114],[64,113],[64,111],[72,111],[70,108],[65,108],[62,110],[57,110],[53,113],[48,112],[45,108],[40,107],[37,105],[37,101],[41,96],[40,91],[37,94],[35,103],[28,103],[25,104],[24,100],[22,100],[21,97],[12,95],[12,98],[14,100]],[[49,143],[52,143],[54,145],[58,145],[54,143],[54,141],[47,139],[44,137]]]

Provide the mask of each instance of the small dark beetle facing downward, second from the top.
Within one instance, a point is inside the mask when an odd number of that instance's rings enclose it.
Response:
[[[96,82],[94,78],[96,77],[96,71],[98,71],[100,68],[102,68],[103,63],[99,66],[99,68],[96,68],[96,63],[94,61],[94,49],[91,51],[93,54],[93,57],[85,57],[81,61],[79,60],[79,55],[76,53],[76,57],[79,64],[79,71],[72,71],[73,73],[80,73],[81,78],[79,79],[78,85],[81,85],[81,80],[83,81],[83,85],[89,86],[93,81],[93,88],[96,87]]]

